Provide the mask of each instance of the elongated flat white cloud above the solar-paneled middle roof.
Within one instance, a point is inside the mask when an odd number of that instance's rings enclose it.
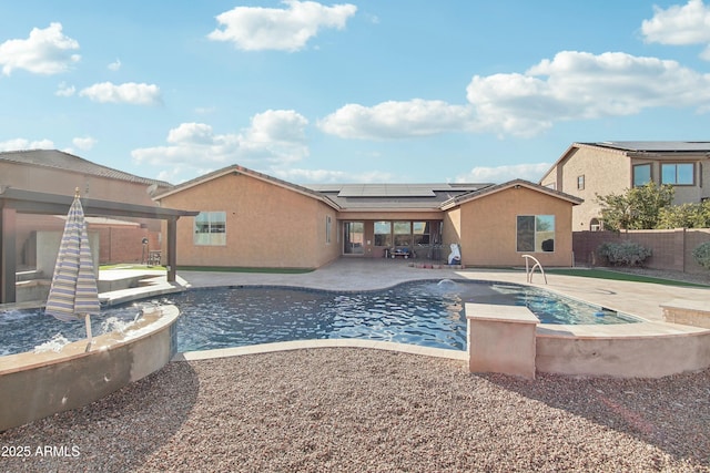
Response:
[[[318,122],[325,133],[344,138],[392,140],[465,131],[473,110],[443,101],[414,99],[367,107],[347,104]]]

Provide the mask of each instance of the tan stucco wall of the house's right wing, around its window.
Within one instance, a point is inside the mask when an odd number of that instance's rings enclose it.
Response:
[[[555,251],[530,254],[545,267],[571,266],[571,212],[570,202],[526,187],[485,195],[447,213],[445,249],[452,243],[460,244],[464,265],[521,266],[523,253],[516,247],[517,216],[555,215]]]

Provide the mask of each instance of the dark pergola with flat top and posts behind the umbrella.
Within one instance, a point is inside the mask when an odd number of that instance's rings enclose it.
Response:
[[[14,302],[17,274],[17,214],[67,215],[72,196],[45,194],[0,186],[0,304]],[[178,219],[195,216],[199,212],[148,205],[82,198],[84,215],[92,217],[155,218],[168,222],[168,280],[176,275]]]

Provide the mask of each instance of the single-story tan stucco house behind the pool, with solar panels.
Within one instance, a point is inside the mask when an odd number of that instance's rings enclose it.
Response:
[[[570,266],[581,199],[526,181],[301,186],[232,165],[154,196],[199,212],[178,222],[178,265],[317,268],[336,258]]]

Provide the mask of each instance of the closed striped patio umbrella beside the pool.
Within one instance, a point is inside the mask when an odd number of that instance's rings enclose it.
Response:
[[[79,200],[79,188],[69,208],[64,234],[57,255],[54,276],[49,290],[44,313],[63,321],[81,320],[87,323],[87,338],[91,345],[91,315],[99,315],[99,290],[94,274],[84,210]]]

